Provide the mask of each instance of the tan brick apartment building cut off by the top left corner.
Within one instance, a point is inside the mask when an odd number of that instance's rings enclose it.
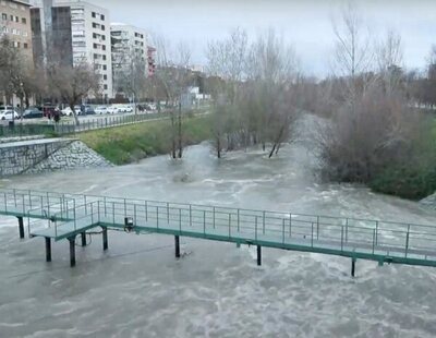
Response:
[[[31,4],[27,1],[0,0],[0,35],[8,36],[13,46],[23,49],[32,60]]]

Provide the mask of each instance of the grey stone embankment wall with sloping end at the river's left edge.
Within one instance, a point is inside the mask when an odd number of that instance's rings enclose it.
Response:
[[[0,177],[110,166],[77,140],[37,140],[0,145]]]

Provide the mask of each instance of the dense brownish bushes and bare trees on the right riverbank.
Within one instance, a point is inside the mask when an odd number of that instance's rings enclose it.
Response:
[[[416,102],[435,98],[436,49],[426,81],[416,82],[401,67],[401,37],[388,32],[384,41],[372,41],[352,5],[334,31],[339,76],[317,84],[308,101],[328,118],[314,135],[322,178],[411,200],[434,193],[435,118]]]

